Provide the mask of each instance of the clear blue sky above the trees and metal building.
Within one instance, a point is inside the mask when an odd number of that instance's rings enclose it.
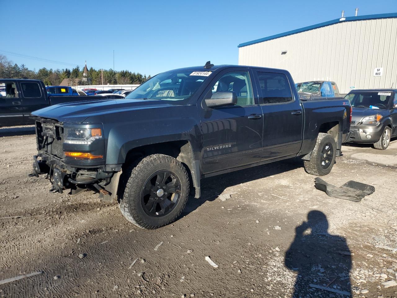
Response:
[[[154,75],[185,66],[237,64],[246,41],[345,16],[397,12],[397,0],[0,0],[3,51]],[[6,54],[30,69],[71,68]]]

